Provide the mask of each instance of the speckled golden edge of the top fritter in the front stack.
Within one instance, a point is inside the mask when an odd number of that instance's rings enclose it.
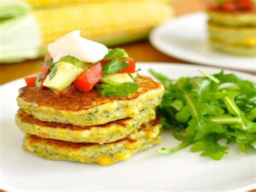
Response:
[[[143,109],[154,108],[159,105],[164,94],[164,86],[153,81],[151,78],[141,76],[140,78],[142,79],[141,81],[145,81],[139,84],[143,85],[143,88],[140,87],[140,92],[137,91],[137,93],[132,94],[131,97],[105,97],[105,99],[111,98],[109,102],[79,111],[65,111],[26,101],[26,99],[23,98],[25,95],[22,96],[21,90],[17,98],[18,106],[23,108],[26,113],[32,114],[35,118],[42,121],[62,122],[64,124],[80,126],[106,124],[107,122],[116,121],[118,119],[134,117]],[[150,87],[151,84],[155,84],[155,88],[152,89],[152,87]],[[142,89],[144,91],[142,91]],[[102,97],[102,95],[100,95],[100,97]],[[116,100],[117,98],[118,100]]]

